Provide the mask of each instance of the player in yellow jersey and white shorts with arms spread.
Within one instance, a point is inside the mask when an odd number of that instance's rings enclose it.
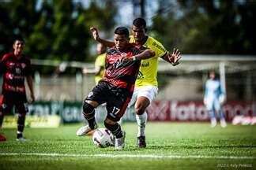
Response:
[[[93,38],[106,46],[114,46],[114,42],[100,39],[100,35],[96,28],[91,28]],[[137,146],[146,147],[145,142],[145,125],[148,120],[148,114],[146,113],[147,107],[156,97],[158,91],[157,83],[157,68],[158,58],[161,57],[165,61],[175,66],[179,64],[181,59],[181,53],[179,50],[173,50],[172,54],[164,48],[164,46],[156,39],[146,34],[146,22],[143,18],[137,18],[133,21],[132,35],[130,35],[130,42],[135,42],[141,46],[152,49],[155,52],[155,56],[141,61],[141,67],[139,75],[135,83],[135,89],[133,98],[130,105],[134,105],[137,120]]]

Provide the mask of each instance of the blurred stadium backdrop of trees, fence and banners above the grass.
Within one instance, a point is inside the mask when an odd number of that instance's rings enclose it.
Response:
[[[58,114],[62,122],[82,121],[81,101],[94,86],[93,76],[81,73],[82,68],[93,67],[96,55],[96,42],[88,28],[96,26],[104,38],[111,39],[116,26],[130,28],[135,17],[145,17],[149,35],[168,50],[178,47],[183,52],[181,65],[176,67],[160,60],[159,94],[153,105],[162,110],[149,108],[149,120],[209,120],[202,98],[207,72],[213,69],[220,73],[227,94],[228,121],[235,115],[256,114],[252,1],[27,2],[28,6],[19,1],[0,3],[5,26],[1,28],[0,54],[9,51],[13,35],[24,36],[37,100],[29,105],[28,115]],[[160,27],[163,24],[165,28]],[[99,110],[102,120],[104,109]],[[127,110],[124,120],[134,120],[132,110]]]

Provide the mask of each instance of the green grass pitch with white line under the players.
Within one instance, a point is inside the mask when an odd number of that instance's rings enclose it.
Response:
[[[16,129],[2,129],[0,169],[256,169],[256,126],[149,122],[147,147],[138,149],[137,125],[126,123],[126,147],[114,150],[77,137],[82,125],[25,128],[27,142],[15,140]]]

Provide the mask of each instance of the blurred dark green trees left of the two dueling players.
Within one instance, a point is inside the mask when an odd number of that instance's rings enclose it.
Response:
[[[10,50],[14,35],[22,35],[26,41],[24,52],[32,58],[88,61],[92,41],[89,27],[110,31],[115,11],[111,0],[91,2],[88,8],[72,0],[0,2],[0,54]],[[41,71],[52,72],[52,68]]]

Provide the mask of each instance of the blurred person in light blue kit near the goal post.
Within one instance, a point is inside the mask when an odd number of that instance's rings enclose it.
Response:
[[[225,102],[224,91],[220,79],[216,79],[215,72],[209,72],[209,79],[205,83],[204,104],[211,118],[211,126],[216,126],[216,116],[220,118],[220,126],[226,127],[222,105]]]

